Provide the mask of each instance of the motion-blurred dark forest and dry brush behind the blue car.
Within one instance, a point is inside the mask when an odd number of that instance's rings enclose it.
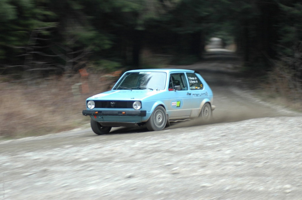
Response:
[[[218,49],[301,99],[298,0],[1,0],[0,136],[69,130],[89,95],[129,69],[189,65]]]

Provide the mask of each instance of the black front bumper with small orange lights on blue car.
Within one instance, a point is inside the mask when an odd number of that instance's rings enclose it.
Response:
[[[145,117],[147,111],[89,111],[83,110],[85,116],[140,116]]]

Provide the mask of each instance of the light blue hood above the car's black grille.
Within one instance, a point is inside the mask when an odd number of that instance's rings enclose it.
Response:
[[[87,100],[142,100],[163,90],[114,90],[89,97]]]

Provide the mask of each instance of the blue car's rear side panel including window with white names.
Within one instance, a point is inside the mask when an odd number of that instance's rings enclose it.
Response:
[[[201,104],[205,98],[208,98],[208,91],[195,73],[186,73],[186,75],[189,81],[189,93],[191,93],[191,117],[197,117],[202,108]]]

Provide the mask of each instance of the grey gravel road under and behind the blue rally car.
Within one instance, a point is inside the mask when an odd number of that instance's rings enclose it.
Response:
[[[87,126],[1,141],[3,199],[302,199],[302,115],[222,73],[232,64],[182,66],[213,89],[211,124],[102,136]]]

